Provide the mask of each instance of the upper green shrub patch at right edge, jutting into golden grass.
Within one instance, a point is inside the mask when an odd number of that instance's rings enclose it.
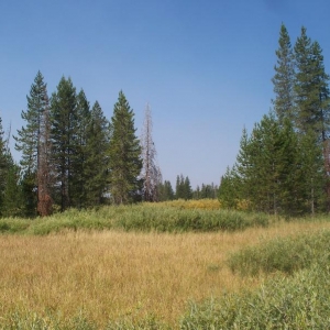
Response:
[[[275,239],[257,246],[246,248],[232,254],[228,264],[232,272],[241,275],[258,273],[294,272],[311,264],[330,261],[330,231],[312,235]]]

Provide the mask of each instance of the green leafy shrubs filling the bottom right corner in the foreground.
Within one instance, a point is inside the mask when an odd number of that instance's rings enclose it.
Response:
[[[254,292],[190,304],[180,329],[329,329],[330,270],[315,265]]]

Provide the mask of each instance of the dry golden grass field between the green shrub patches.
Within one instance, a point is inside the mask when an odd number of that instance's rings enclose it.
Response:
[[[273,237],[330,223],[278,223],[235,233],[66,232],[0,237],[0,315],[22,307],[63,317],[84,308],[98,324],[146,312],[175,324],[189,299],[238,290],[257,279],[233,276],[228,253]]]

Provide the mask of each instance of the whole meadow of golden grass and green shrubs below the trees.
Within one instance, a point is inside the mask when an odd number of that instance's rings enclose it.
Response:
[[[0,220],[0,329],[327,328],[327,217],[216,202]]]

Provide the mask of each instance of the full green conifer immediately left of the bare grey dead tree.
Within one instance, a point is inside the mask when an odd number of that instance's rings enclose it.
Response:
[[[141,199],[141,145],[135,136],[134,113],[124,94],[119,92],[111,118],[109,143],[110,194],[114,204]]]

